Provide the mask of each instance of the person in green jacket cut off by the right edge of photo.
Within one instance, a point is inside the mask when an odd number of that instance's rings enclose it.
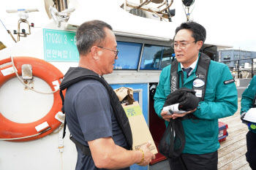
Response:
[[[256,93],[256,76],[254,76],[249,82],[248,87],[244,90],[241,99],[241,119],[246,115],[246,112],[255,108],[255,93]],[[256,115],[256,113],[255,113]],[[252,169],[256,169],[256,129],[255,123],[248,123],[249,131],[246,134],[246,161]]]

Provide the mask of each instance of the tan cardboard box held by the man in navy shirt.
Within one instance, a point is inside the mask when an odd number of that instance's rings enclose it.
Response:
[[[124,107],[124,111],[127,114],[127,117],[129,119],[129,124],[132,129],[132,138],[133,138],[132,150],[138,150],[141,145],[150,141],[151,145],[150,147],[148,147],[148,149],[152,153],[157,154],[156,144],[154,144],[154,140],[148,129],[148,125],[143,116],[143,112],[140,109],[140,105],[138,104],[138,101],[135,101],[133,104],[123,106],[123,107]]]

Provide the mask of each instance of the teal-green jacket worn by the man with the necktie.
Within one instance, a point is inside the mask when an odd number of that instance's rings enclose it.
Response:
[[[187,78],[184,74],[184,84],[182,87],[192,88],[195,80],[195,70]],[[178,74],[181,88],[181,71],[180,63],[178,64]],[[232,80],[233,77],[228,67],[223,63],[211,61],[208,78],[206,83],[206,95],[204,101],[201,101],[197,110],[193,113],[198,120],[183,120],[186,145],[184,153],[189,154],[204,154],[214,152],[219,149],[218,135],[219,125],[218,119],[234,115],[238,109],[238,96],[235,82],[227,85],[224,84],[227,80]],[[154,95],[154,109],[159,117],[162,112],[162,107],[165,104],[167,96],[170,94],[170,66],[162,69],[159,77],[159,84]],[[168,122],[165,121],[165,125]]]

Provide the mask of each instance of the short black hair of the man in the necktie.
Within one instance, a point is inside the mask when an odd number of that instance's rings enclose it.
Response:
[[[199,23],[195,23],[194,21],[188,21],[187,23],[181,23],[181,26],[178,26],[175,31],[175,36],[181,29],[188,29],[192,31],[192,37],[195,39],[195,42],[206,41],[206,28],[204,28]],[[173,37],[173,40],[175,38]]]

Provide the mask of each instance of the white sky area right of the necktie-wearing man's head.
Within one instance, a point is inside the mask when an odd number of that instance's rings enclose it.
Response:
[[[191,18],[206,27],[207,38],[256,51],[255,7],[255,0],[195,0]]]

